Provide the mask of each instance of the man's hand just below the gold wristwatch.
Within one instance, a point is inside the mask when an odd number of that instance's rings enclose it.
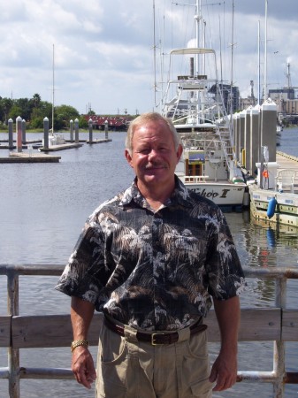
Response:
[[[91,388],[91,384],[96,379],[96,369],[87,347],[80,346],[74,349],[72,371],[78,383]]]

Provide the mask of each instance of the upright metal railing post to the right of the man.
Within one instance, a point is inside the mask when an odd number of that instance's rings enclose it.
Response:
[[[275,305],[281,310],[281,325],[283,310],[287,304],[287,279],[277,278],[275,286]],[[281,328],[282,330],[282,328]],[[279,341],[274,341],[273,349],[273,372],[276,379],[273,383],[273,397],[283,398],[285,392],[284,377],[285,377],[285,343],[280,336]]]

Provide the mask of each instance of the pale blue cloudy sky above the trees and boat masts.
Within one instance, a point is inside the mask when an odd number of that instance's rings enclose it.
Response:
[[[266,0],[198,3],[206,47],[217,50],[223,79],[233,81],[243,97],[250,94],[254,80],[257,96],[259,76],[264,82]],[[51,103],[54,93],[55,105],[71,105],[81,114],[90,109],[96,114],[158,111],[169,51],[191,45],[195,37],[195,4],[195,0],[2,2],[0,96],[32,98],[37,93]],[[287,63],[291,84],[298,87],[297,15],[297,0],[267,0],[268,89],[287,86]]]

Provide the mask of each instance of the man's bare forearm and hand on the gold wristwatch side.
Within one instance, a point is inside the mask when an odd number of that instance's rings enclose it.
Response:
[[[73,325],[73,341],[88,340],[88,328],[93,318],[95,306],[78,297],[72,297],[71,319]],[[96,379],[93,358],[85,346],[73,350],[72,371],[78,383],[91,388]]]

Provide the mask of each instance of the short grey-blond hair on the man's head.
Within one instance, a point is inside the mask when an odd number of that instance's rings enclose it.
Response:
[[[164,118],[164,116],[162,116],[160,113],[148,112],[148,113],[142,113],[140,116],[132,120],[129,124],[126,134],[126,149],[128,150],[129,154],[131,155],[133,151],[133,137],[135,129],[149,121],[162,121],[166,126],[169,127],[172,133],[172,139],[174,142],[175,149],[177,150],[181,143],[180,135],[177,133],[175,126],[172,124],[172,120]]]

